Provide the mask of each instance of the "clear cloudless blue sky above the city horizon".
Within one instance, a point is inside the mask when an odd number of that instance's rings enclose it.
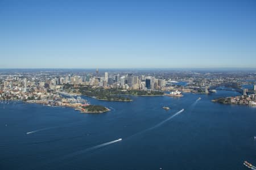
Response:
[[[256,1],[0,0],[0,68],[256,67]]]

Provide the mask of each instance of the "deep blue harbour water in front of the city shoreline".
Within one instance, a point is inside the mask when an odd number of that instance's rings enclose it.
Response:
[[[0,104],[0,169],[247,169],[244,160],[256,164],[256,108],[210,101],[233,95],[240,94],[133,96],[131,103],[85,97],[112,109],[103,114]]]

